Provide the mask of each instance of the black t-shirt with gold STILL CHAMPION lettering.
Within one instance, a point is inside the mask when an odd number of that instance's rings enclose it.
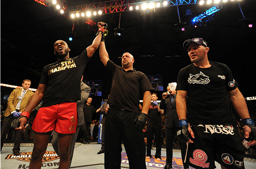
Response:
[[[47,85],[42,107],[81,99],[81,78],[90,58],[84,50],[79,56],[45,66],[39,84]]]

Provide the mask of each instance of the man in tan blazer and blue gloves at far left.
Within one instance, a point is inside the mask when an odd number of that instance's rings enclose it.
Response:
[[[34,94],[34,92],[28,89],[30,85],[30,80],[23,80],[22,88],[14,89],[9,96],[7,102],[8,106],[4,113],[4,120],[1,127],[1,151],[4,144],[4,138],[6,137],[6,134],[11,128],[11,122],[13,122],[13,120],[20,116],[21,112],[25,110],[25,108],[28,105],[28,102]],[[23,133],[16,132],[16,138],[13,147],[14,155],[20,155],[20,143],[22,134]]]

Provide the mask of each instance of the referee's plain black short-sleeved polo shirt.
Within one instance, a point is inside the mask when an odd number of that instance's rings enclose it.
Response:
[[[146,91],[153,91],[146,75],[135,69],[125,71],[111,60],[108,60],[105,68],[110,72],[112,78],[108,104],[124,108],[131,112],[140,113],[140,94]]]

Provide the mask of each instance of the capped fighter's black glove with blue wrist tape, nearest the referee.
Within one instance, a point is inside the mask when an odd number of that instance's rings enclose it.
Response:
[[[180,130],[177,131],[177,138],[181,142],[187,142],[190,139],[188,124],[186,120],[179,120]]]

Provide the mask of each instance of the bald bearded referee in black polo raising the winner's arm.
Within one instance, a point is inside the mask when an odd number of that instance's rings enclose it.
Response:
[[[122,56],[122,67],[108,58],[104,41],[100,42],[100,59],[112,77],[105,120],[105,169],[121,168],[121,141],[130,169],[146,169],[146,147],[142,129],[145,127],[153,88],[145,74],[133,68],[134,57]],[[143,94],[140,113],[139,96]]]

